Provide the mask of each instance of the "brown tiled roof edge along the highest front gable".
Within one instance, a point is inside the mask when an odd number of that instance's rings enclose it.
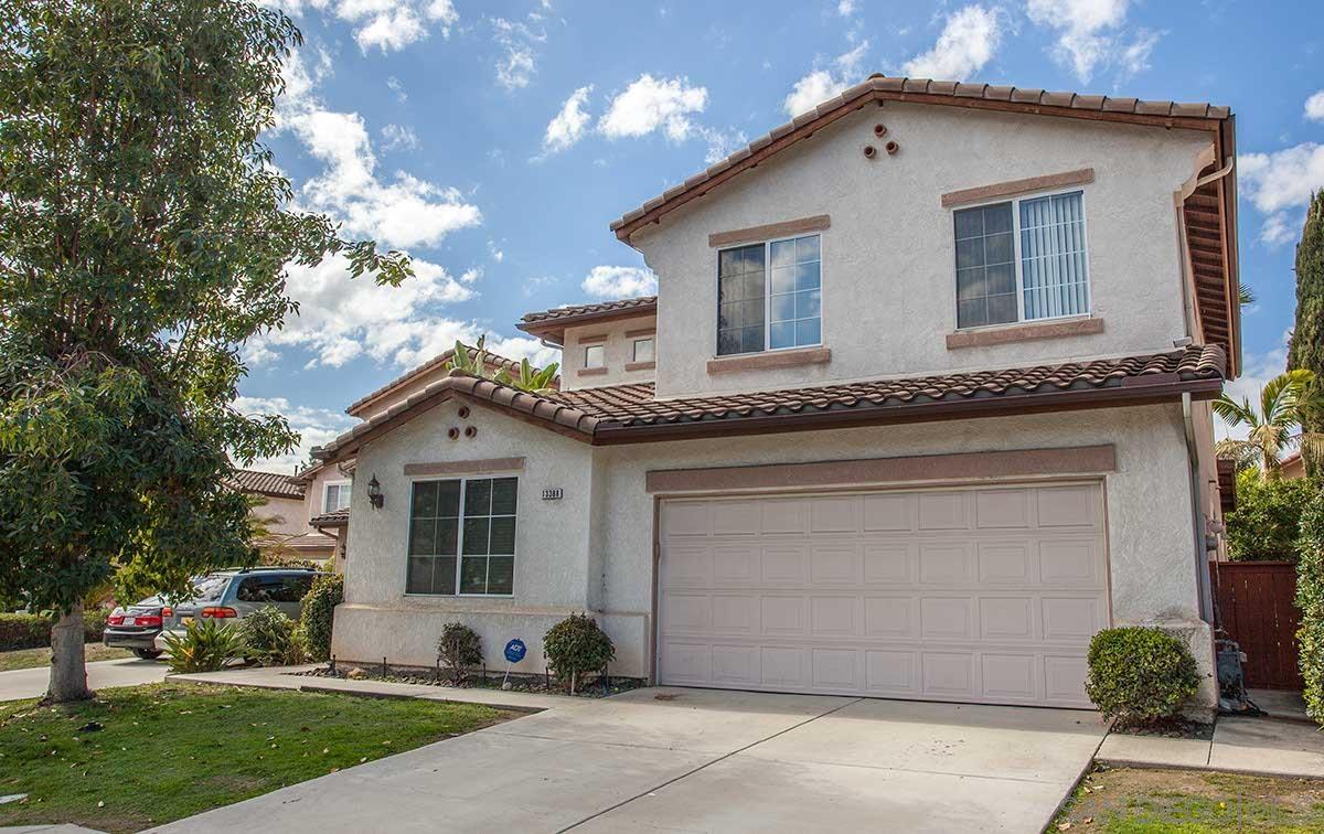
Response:
[[[772,128],[765,136],[755,139],[735,154],[710,165],[679,185],[667,189],[639,208],[626,212],[620,220],[612,224],[612,230],[621,240],[628,240],[642,225],[641,221],[653,220],[655,216],[659,216],[658,209],[663,209],[665,213],[669,204],[679,205],[685,201],[683,199],[688,199],[695,192],[707,192],[712,180],[723,181],[728,179],[730,173],[736,173],[740,169],[763,162],[771,154],[789,147],[798,139],[808,138],[822,124],[858,110],[871,101],[919,102],[1034,115],[1140,122],[1160,126],[1193,126],[1192,123],[1201,120],[1217,122],[1231,116],[1229,107],[1218,107],[1207,103],[1141,101],[1139,98],[1051,93],[1049,90],[1027,87],[875,74],[870,75],[863,83],[845,90],[841,95],[830,98],[813,110],[797,115],[790,122]],[[756,156],[757,159],[755,159]]]

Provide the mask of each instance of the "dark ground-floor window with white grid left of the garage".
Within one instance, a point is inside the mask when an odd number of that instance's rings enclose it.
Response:
[[[416,481],[405,593],[510,596],[516,478]]]

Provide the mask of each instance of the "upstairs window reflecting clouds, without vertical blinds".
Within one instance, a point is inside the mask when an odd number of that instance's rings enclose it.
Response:
[[[822,344],[817,234],[718,253],[718,356]]]

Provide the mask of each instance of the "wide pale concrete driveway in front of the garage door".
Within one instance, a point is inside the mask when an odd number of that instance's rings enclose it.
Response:
[[[572,703],[166,831],[1039,831],[1092,712],[646,688]]]

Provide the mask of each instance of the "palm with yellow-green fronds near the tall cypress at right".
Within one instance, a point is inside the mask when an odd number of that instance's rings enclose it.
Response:
[[[1307,455],[1324,454],[1324,434],[1305,432],[1303,421],[1324,408],[1315,385],[1315,373],[1305,369],[1280,373],[1259,392],[1259,409],[1250,397],[1241,402],[1226,393],[1214,400],[1214,413],[1230,426],[1245,426],[1246,440],[1218,441],[1219,457],[1233,458],[1241,466],[1258,466],[1266,478],[1278,478],[1284,451],[1301,449]]]

